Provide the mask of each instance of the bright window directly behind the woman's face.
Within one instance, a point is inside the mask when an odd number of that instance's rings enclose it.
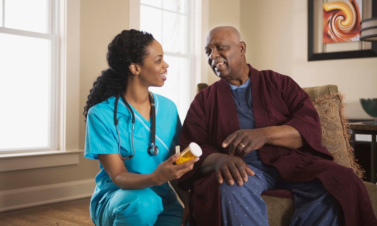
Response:
[[[140,0],[139,30],[161,43],[169,64],[164,86],[149,90],[171,99],[182,122],[193,96],[191,5],[191,0]]]

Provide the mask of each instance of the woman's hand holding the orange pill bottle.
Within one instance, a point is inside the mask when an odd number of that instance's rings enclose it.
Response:
[[[151,176],[156,185],[162,185],[170,180],[179,179],[183,174],[192,170],[194,163],[199,160],[199,158],[195,158],[179,165],[173,165],[173,162],[178,159],[178,156],[179,153],[176,153],[168,160],[161,162],[156,170],[153,171]]]

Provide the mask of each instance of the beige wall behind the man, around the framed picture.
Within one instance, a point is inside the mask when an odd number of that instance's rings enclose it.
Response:
[[[359,98],[377,97],[377,58],[307,61],[307,1],[241,0],[247,61],[292,77],[301,87],[334,84],[346,95],[349,118],[370,118]]]

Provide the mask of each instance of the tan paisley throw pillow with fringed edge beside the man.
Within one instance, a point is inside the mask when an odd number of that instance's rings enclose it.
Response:
[[[363,173],[353,154],[353,148],[349,144],[348,119],[344,116],[345,95],[330,93],[317,98],[313,105],[316,108],[322,127],[322,146],[334,156],[334,162],[352,168],[360,178]]]

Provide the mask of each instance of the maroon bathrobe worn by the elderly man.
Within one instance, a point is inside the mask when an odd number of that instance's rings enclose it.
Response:
[[[308,143],[294,150],[264,145],[259,149],[262,161],[276,167],[289,182],[307,182],[318,178],[342,206],[346,226],[377,225],[362,180],[352,169],[333,162],[331,154],[321,145],[319,116],[307,93],[288,76],[271,70],[258,71],[250,64],[248,66],[256,127],[290,125]],[[198,168],[212,153],[229,154],[229,147],[222,148],[222,142],[239,129],[236,107],[225,79],[220,79],[195,96],[179,139],[181,150],[190,142],[196,142],[203,151],[193,170],[178,180],[180,189],[191,189],[191,225],[220,225],[219,184],[215,172],[203,176]]]

